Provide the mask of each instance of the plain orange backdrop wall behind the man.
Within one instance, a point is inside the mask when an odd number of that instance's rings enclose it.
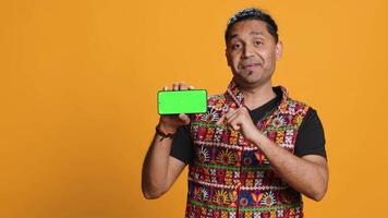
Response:
[[[162,198],[141,192],[156,93],[231,78],[223,31],[244,7],[279,25],[274,85],[317,109],[329,190],[306,217],[385,217],[388,3],[97,1],[0,3],[0,217],[183,217],[186,171]]]

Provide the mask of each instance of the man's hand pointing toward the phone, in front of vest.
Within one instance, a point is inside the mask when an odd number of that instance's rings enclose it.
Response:
[[[229,109],[229,111],[221,117],[217,124],[221,124],[223,121],[227,121],[233,130],[240,130],[244,137],[251,142],[255,141],[257,134],[260,134],[256,125],[253,123],[250,112],[245,107]]]

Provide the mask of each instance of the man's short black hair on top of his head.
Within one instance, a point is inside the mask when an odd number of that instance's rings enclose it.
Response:
[[[229,19],[227,24],[227,31],[225,32],[225,40],[228,41],[228,39],[231,37],[230,31],[232,29],[235,23],[247,20],[257,20],[265,22],[268,33],[274,37],[275,43],[278,43],[278,26],[276,25],[275,21],[269,14],[256,8],[243,9]]]

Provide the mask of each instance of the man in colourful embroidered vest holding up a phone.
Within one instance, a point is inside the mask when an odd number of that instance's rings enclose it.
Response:
[[[282,53],[277,31],[258,9],[230,19],[226,56],[233,80],[223,95],[209,97],[205,114],[160,117],[144,161],[146,198],[167,192],[186,165],[185,217],[303,217],[301,194],[324,197],[319,118],[284,87],[271,86]]]

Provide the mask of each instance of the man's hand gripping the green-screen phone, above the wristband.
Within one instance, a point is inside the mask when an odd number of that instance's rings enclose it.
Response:
[[[194,89],[193,86],[187,86],[185,83],[174,83],[172,85],[173,90],[186,90]],[[162,90],[169,90],[169,87],[163,87]],[[160,116],[159,125],[163,132],[174,133],[177,129],[181,125],[186,125],[190,123],[189,116],[184,113],[173,114],[173,116]]]

